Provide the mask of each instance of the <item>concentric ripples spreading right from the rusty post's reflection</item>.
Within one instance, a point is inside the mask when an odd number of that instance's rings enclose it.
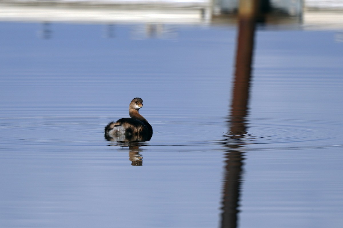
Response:
[[[317,120],[248,119],[246,133],[215,140],[219,145],[246,145],[251,149],[300,149],[343,146],[343,123]]]

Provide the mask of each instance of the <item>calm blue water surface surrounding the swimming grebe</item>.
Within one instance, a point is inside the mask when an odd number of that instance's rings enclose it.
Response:
[[[0,227],[342,227],[335,31],[256,31],[232,135],[234,27],[0,28]],[[106,141],[134,97],[153,137]]]

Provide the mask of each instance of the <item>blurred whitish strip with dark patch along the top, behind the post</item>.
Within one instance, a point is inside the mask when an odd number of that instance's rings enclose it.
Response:
[[[235,25],[238,0],[1,0],[1,21],[41,23],[143,23],[163,35],[163,25]],[[340,0],[261,0],[264,26],[341,29]],[[263,17],[263,18],[262,18]],[[301,26],[299,26],[301,24]]]

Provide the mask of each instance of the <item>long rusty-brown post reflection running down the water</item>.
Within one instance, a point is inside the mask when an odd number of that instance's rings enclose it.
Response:
[[[243,181],[244,137],[247,133],[247,115],[251,63],[258,9],[257,0],[241,0],[239,6],[238,37],[235,77],[232,101],[228,115],[228,133],[224,135],[223,146],[225,166],[221,227],[235,228],[238,225],[239,197]]]

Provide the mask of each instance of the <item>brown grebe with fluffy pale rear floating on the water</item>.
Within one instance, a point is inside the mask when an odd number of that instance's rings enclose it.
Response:
[[[129,105],[131,118],[121,118],[105,127],[105,138],[109,141],[147,141],[152,136],[152,126],[138,113],[143,107],[141,98],[133,98]]]

